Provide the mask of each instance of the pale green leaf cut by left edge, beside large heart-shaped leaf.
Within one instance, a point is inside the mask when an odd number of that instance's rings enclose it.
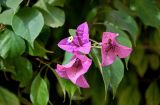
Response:
[[[13,9],[5,10],[3,13],[0,14],[0,23],[11,25],[13,16],[14,16]]]

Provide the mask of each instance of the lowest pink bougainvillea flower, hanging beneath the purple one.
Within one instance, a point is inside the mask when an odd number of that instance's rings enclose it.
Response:
[[[57,64],[57,74],[65,79],[70,79],[74,84],[82,88],[89,88],[84,74],[91,66],[92,60],[85,55],[75,54],[71,61],[65,65]]]

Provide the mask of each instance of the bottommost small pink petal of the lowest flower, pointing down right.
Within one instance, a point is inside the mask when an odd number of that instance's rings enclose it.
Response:
[[[89,88],[89,84],[86,81],[86,79],[84,78],[84,76],[80,76],[77,81],[76,81],[76,85],[78,85],[79,87],[82,88]]]

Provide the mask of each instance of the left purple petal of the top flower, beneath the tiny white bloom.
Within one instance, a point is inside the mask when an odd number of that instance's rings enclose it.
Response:
[[[58,43],[58,47],[68,52],[73,52],[76,48],[72,43],[68,42],[68,38],[62,39]]]

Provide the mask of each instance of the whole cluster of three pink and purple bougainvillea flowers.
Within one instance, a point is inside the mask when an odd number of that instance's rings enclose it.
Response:
[[[102,66],[111,65],[116,57],[126,58],[130,55],[132,49],[119,44],[116,41],[118,34],[112,32],[103,32],[102,42],[99,43],[102,55]],[[87,22],[77,27],[76,35],[62,39],[58,46],[73,54],[70,62],[65,65],[57,64],[57,74],[65,79],[70,79],[74,84],[82,88],[88,88],[89,84],[84,78],[84,74],[88,71],[92,64],[86,54],[91,50],[91,42],[89,40],[89,30]]]

